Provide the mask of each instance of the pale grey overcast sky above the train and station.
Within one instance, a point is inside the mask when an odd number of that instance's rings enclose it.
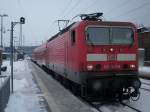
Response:
[[[93,12],[103,12],[106,20],[150,27],[150,0],[0,0],[0,14],[9,16],[4,19],[4,44],[9,45],[10,22],[19,21],[21,16],[26,18],[24,44],[39,45],[58,32],[56,20]],[[19,25],[14,35],[17,41]]]

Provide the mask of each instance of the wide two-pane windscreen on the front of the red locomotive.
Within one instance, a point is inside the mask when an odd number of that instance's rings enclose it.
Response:
[[[86,30],[86,41],[92,45],[131,45],[134,42],[134,32],[126,27],[89,27]]]

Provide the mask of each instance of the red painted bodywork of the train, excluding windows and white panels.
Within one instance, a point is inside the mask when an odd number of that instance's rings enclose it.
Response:
[[[128,45],[98,45],[91,46],[86,43],[85,28],[88,25],[99,25],[99,26],[126,26],[131,27],[134,30],[134,44],[132,47]],[[75,29],[76,33],[76,43],[72,46],[70,31]],[[113,52],[110,52],[109,49],[114,48]],[[71,69],[74,71],[87,71],[87,65],[100,64],[102,68],[99,71],[109,71],[110,65],[113,65],[113,71],[126,70],[122,68],[124,64],[130,65],[135,64],[138,69],[138,38],[136,28],[132,23],[127,22],[99,22],[99,21],[81,21],[75,23],[69,31],[59,35],[57,38],[43,44],[42,46],[36,48],[33,52],[33,58],[36,60],[44,60],[45,63],[54,64],[55,66],[61,67],[62,69]],[[105,53],[105,54],[118,54],[118,53],[130,53],[136,54],[136,61],[104,61],[104,62],[87,62],[86,54],[88,53]],[[118,68],[117,66],[121,66]],[[129,70],[129,69],[127,69]],[[131,69],[130,69],[131,70]],[[93,70],[95,71],[95,70]]]

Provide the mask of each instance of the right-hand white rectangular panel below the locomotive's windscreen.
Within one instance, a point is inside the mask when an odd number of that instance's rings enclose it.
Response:
[[[136,54],[118,54],[117,61],[135,61]]]

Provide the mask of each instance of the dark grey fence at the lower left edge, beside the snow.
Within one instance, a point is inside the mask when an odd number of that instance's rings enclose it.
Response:
[[[10,96],[10,77],[0,76],[0,112],[4,112],[4,109],[8,103]]]

